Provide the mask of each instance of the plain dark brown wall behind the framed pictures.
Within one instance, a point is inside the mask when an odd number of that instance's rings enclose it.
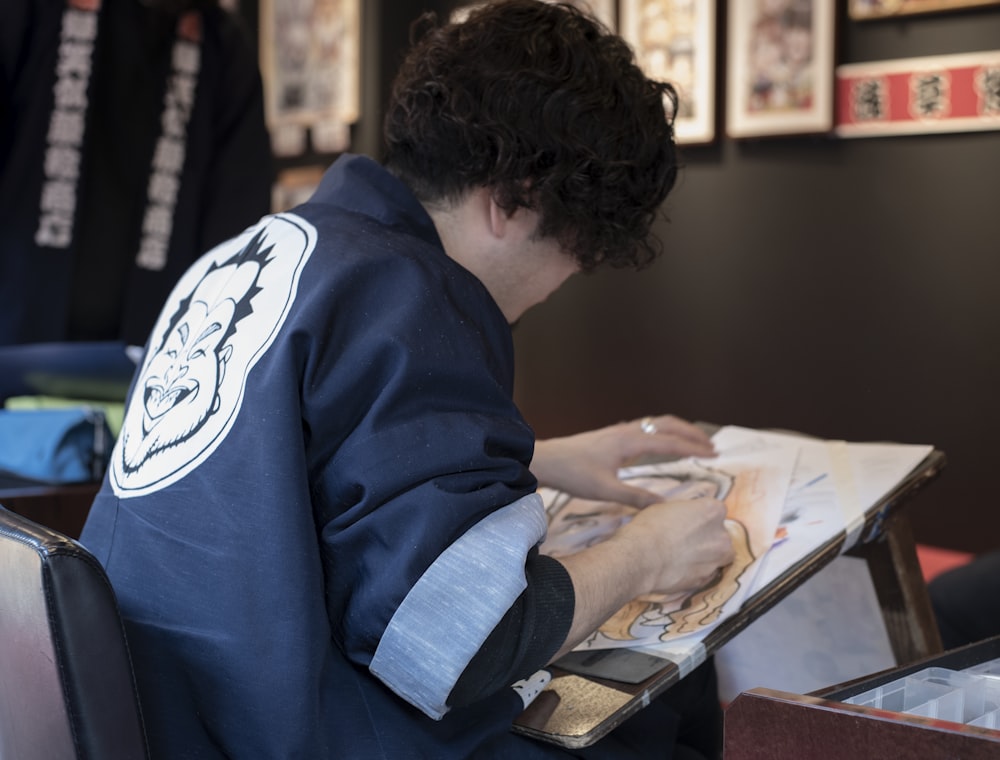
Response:
[[[379,155],[409,22],[454,5],[364,0],[354,151]],[[852,22],[838,5],[839,63],[1000,49],[1000,7]],[[721,47],[717,71],[721,108]],[[1000,545],[1000,131],[720,136],[682,159],[657,264],[575,277],[518,326],[539,436],[673,412],[929,443],[949,464],[913,502],[917,540]]]

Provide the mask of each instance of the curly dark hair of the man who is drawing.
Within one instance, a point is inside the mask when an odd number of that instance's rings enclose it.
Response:
[[[628,45],[571,5],[505,0],[466,21],[412,27],[393,85],[385,165],[425,203],[490,188],[539,213],[582,271],[640,268],[677,178],[677,94]],[[669,101],[668,103],[665,103]]]

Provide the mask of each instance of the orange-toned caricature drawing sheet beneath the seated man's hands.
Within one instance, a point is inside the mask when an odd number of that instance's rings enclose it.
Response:
[[[739,608],[758,560],[770,548],[791,478],[792,459],[759,456],[681,460],[623,470],[620,476],[664,501],[717,498],[726,503],[735,561],[704,587],[677,595],[638,597],[591,634],[580,649],[655,645],[704,631]],[[545,498],[543,494],[543,498]],[[566,556],[607,539],[639,511],[562,492],[545,499],[549,532],[541,551]]]

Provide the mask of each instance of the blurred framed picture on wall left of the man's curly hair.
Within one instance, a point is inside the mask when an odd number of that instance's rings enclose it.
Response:
[[[360,111],[361,0],[261,0],[264,107],[275,153],[344,150]]]

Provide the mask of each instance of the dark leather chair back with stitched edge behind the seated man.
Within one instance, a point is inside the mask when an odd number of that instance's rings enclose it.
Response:
[[[76,541],[0,506],[0,760],[148,758],[114,591]]]

